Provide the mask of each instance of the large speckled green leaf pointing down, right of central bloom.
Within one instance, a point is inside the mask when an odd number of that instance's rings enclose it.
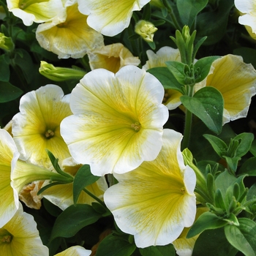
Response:
[[[222,131],[224,101],[217,89],[211,86],[203,87],[194,94],[194,97],[181,96],[181,102],[212,132],[219,134]]]

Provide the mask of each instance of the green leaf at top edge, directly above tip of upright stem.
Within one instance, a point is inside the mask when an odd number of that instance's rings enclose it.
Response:
[[[204,7],[208,0],[179,0],[177,1],[178,14],[182,20],[183,25],[188,25],[189,27],[195,21],[195,18]]]

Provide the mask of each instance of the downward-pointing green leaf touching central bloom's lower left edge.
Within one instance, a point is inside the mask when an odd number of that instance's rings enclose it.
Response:
[[[74,178],[73,184],[73,200],[74,204],[78,202],[80,192],[87,186],[96,182],[100,177],[91,174],[90,165],[83,165],[79,168]]]

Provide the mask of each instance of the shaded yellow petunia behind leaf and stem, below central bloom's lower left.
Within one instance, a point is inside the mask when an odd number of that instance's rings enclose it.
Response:
[[[78,163],[76,163],[72,157],[65,159],[62,164],[62,170],[72,176],[75,176],[80,167],[81,165],[78,165]],[[45,181],[45,184],[47,184],[47,181]],[[93,195],[97,196],[99,199],[103,200],[103,194],[105,190],[108,189],[108,184],[105,180],[105,177],[100,177],[98,181],[87,186],[86,189],[89,190],[89,192],[91,192]],[[55,185],[46,189],[45,192],[42,192],[42,195],[51,203],[61,208],[63,211],[68,206],[72,206],[74,204],[73,183]],[[82,191],[78,197],[77,203],[86,203],[91,205],[92,202],[95,202],[94,198],[86,194],[86,192]]]

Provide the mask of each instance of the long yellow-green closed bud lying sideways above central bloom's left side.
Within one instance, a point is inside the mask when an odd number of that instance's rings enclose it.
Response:
[[[39,67],[39,73],[45,78],[48,78],[53,81],[61,82],[70,79],[80,80],[86,75],[86,72],[83,69],[74,69],[67,67],[54,67],[53,64],[48,64],[45,61],[41,61]]]

